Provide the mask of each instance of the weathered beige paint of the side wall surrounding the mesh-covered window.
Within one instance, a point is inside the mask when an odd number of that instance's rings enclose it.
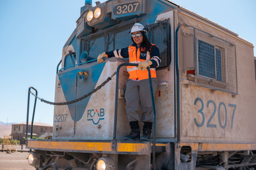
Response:
[[[199,20],[184,11],[180,12],[180,19],[183,20],[179,32],[179,61],[182,70],[180,73],[181,141],[255,143],[256,86],[254,65],[251,62],[253,61],[251,44],[220,27],[214,25],[209,27],[209,22]],[[228,92],[218,90],[212,92],[211,89],[200,87],[194,81],[188,80],[184,66],[186,58],[183,55],[186,46],[183,37],[185,34],[194,33],[193,29],[185,25],[196,27],[236,45],[238,94],[235,97]],[[232,58],[232,61],[227,62],[233,61]],[[233,63],[233,68],[236,68],[236,63]],[[236,74],[228,77],[227,82],[232,81],[232,77],[236,78]],[[237,91],[236,87],[232,88]]]

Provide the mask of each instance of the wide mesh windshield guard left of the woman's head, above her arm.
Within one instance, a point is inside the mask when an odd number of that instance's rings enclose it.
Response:
[[[135,22],[136,19],[133,19],[81,38],[80,55],[83,51],[87,51],[90,57],[97,58],[103,52],[109,52],[131,45],[129,31]]]

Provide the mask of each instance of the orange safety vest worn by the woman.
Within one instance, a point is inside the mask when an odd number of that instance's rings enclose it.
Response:
[[[154,44],[152,44],[154,45]],[[150,60],[150,53],[147,52],[146,57],[144,59],[140,58],[141,52],[140,52],[140,48],[137,48],[137,56],[136,56],[136,46],[135,45],[130,45],[128,47],[128,51],[129,51],[129,62],[130,63],[136,63],[139,64],[142,61],[146,61],[146,60]],[[127,71],[130,74],[129,79],[133,79],[133,80],[143,80],[143,79],[148,79],[148,71],[147,69],[145,69],[144,71],[142,71],[141,69],[138,69],[137,66],[127,66]],[[151,72],[151,78],[157,78],[157,74],[156,74],[156,68],[150,68],[150,72]]]

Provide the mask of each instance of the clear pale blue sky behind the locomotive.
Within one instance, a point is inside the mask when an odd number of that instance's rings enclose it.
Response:
[[[256,44],[256,1],[173,2]],[[30,86],[40,98],[54,101],[56,66],[83,5],[84,0],[0,0],[1,122],[26,122]],[[34,121],[53,124],[53,106],[37,100]]]

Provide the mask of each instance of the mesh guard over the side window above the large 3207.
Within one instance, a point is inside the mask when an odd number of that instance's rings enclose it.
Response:
[[[198,85],[237,92],[236,46],[195,29]]]

